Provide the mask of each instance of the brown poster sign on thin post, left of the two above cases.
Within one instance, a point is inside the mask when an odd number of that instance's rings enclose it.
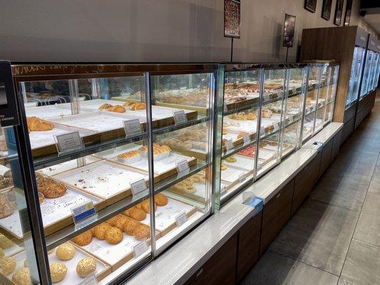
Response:
[[[225,37],[240,38],[240,0],[225,0]]]

